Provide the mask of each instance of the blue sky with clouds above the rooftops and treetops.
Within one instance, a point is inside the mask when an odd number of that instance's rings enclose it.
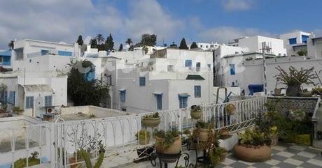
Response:
[[[0,49],[31,38],[74,43],[111,33],[118,48],[155,33],[158,45],[228,43],[242,36],[302,30],[322,36],[321,0],[10,0],[0,1]]]

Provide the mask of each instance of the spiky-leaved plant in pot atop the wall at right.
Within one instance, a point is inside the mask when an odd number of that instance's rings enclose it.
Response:
[[[288,70],[290,72],[286,72],[278,66],[276,70],[279,71],[278,75],[275,75],[276,81],[281,84],[286,84],[286,96],[300,96],[301,85],[302,84],[314,84],[312,79],[316,79],[316,75],[314,74],[313,68],[297,70],[293,66],[290,66]]]

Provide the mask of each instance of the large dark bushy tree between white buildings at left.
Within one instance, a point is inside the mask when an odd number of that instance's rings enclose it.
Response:
[[[70,63],[71,71],[67,78],[67,93],[74,105],[102,106],[109,96],[109,86],[99,79],[88,80],[94,72],[92,62],[84,60]]]

